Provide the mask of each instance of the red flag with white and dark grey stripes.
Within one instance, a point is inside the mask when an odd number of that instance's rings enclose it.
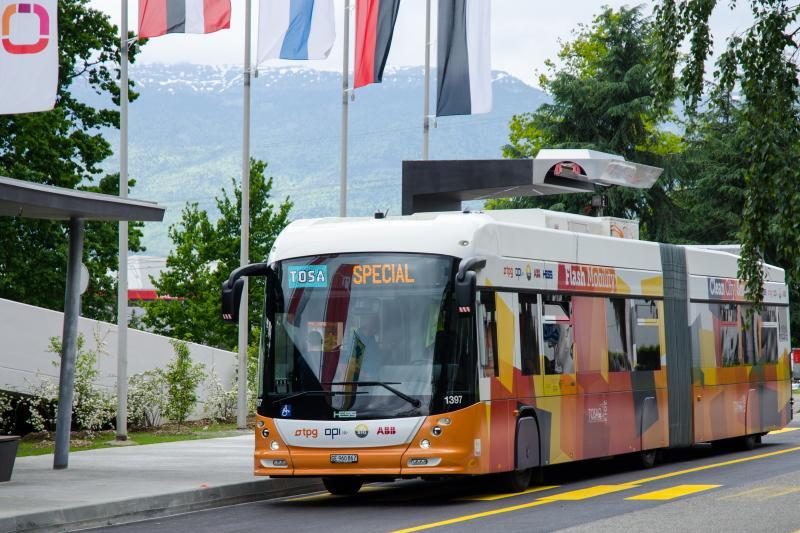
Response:
[[[231,27],[230,0],[139,0],[139,38]]]

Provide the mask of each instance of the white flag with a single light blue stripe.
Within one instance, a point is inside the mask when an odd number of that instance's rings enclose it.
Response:
[[[259,64],[267,59],[325,59],[336,40],[333,0],[262,0]]]

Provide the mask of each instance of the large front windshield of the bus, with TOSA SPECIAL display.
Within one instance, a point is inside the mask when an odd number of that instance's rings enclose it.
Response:
[[[339,254],[273,265],[259,414],[424,416],[476,401],[475,331],[456,313],[456,260]]]

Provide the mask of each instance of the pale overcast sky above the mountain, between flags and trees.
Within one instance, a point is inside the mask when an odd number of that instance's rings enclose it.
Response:
[[[122,0],[126,1],[126,0]],[[536,85],[537,72],[544,70],[547,59],[555,59],[560,40],[570,40],[578,24],[589,24],[603,5],[618,8],[623,5],[638,5],[631,2],[606,0],[486,0],[492,2],[492,68],[506,71],[530,85]],[[351,2],[355,4],[353,0]],[[111,15],[119,24],[121,1],[91,0],[95,9]],[[136,0],[127,1],[129,29],[137,28]],[[257,35],[257,4],[253,1],[253,57]],[[330,57],[324,61],[279,61],[263,66],[285,66],[293,63],[323,70],[342,70],[342,39],[344,0],[334,0],[337,16],[337,42]],[[435,0],[432,38],[436,39]],[[712,30],[718,38],[715,49],[724,46],[724,37],[742,31],[750,17],[747,2],[735,10],[728,2],[716,9],[712,18]],[[654,2],[641,2],[645,13],[650,13]],[[245,0],[232,0],[230,30],[209,35],[166,35],[151,39],[143,48],[137,61],[142,63],[196,63],[205,65],[237,65],[244,61],[244,15]],[[355,17],[351,19],[351,31]],[[352,39],[351,39],[352,42]],[[432,50],[432,65],[436,63],[435,44]],[[351,50],[352,55],[352,50]],[[388,67],[418,66],[425,60],[425,0],[402,0],[395,28]],[[352,67],[352,59],[351,59]]]

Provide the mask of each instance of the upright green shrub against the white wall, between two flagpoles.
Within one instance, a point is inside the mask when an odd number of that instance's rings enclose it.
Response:
[[[178,340],[171,341],[175,357],[167,365],[168,399],[165,414],[177,424],[183,424],[197,405],[197,386],[205,379],[205,365],[193,363],[189,346]]]

